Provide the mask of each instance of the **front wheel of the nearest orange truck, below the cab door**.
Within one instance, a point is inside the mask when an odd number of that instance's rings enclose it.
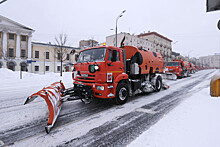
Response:
[[[122,105],[127,102],[128,100],[128,86],[125,83],[121,83],[116,88],[116,96],[115,96],[115,102],[118,105]]]

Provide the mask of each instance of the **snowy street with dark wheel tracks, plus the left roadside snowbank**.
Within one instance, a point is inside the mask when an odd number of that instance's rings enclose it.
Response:
[[[2,69],[1,69],[2,70]],[[7,73],[7,74],[3,74]],[[110,101],[64,103],[50,134],[46,134],[48,110],[42,99],[23,105],[25,98],[43,86],[63,80],[72,84],[71,73],[24,74],[0,71],[0,144],[14,146],[126,146],[146,132],[183,99],[208,86],[216,70],[203,70],[191,77],[167,81],[171,86],[159,93],[131,97],[125,105]],[[202,83],[206,82],[205,86]],[[208,83],[208,84],[207,84]],[[132,143],[134,145],[134,143]],[[137,143],[138,144],[138,143]],[[135,145],[134,145],[135,146]]]

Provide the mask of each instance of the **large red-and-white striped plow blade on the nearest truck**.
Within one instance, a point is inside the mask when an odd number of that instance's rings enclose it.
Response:
[[[29,96],[24,105],[30,103],[37,97],[42,97],[47,103],[49,110],[49,119],[47,125],[45,126],[45,130],[47,133],[50,132],[53,127],[62,106],[62,92],[65,90],[63,83],[55,82],[48,87],[43,88],[42,90],[32,94]]]

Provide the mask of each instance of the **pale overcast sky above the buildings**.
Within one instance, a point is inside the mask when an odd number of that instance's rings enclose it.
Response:
[[[173,40],[173,51],[182,55],[220,53],[220,11],[206,13],[206,0],[7,0],[0,14],[35,30],[33,41],[52,42],[60,33],[68,45],[80,40],[105,42],[118,32],[156,31]]]

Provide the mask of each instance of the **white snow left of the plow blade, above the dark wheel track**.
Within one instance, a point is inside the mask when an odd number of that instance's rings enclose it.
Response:
[[[37,98],[32,103],[24,105],[28,96],[41,90],[43,87],[62,80],[68,88],[72,86],[71,72],[34,74],[19,71],[0,69],[1,95],[0,95],[0,131],[12,128],[34,120],[45,118],[48,115],[47,105],[43,98]]]

